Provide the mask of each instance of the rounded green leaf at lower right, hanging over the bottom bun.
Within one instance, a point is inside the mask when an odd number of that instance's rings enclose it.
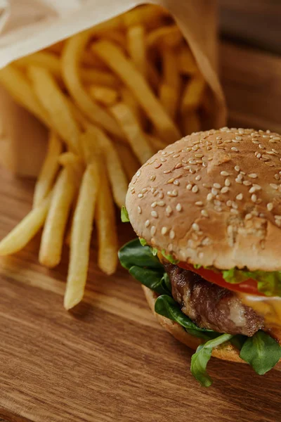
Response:
[[[242,346],[240,357],[251,367],[263,375],[273,369],[281,358],[281,346],[264,331],[257,331],[253,337],[247,338]]]

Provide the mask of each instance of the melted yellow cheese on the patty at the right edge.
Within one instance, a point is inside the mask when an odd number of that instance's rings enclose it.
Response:
[[[256,314],[264,317],[266,328],[281,328],[281,298],[247,295],[237,293],[243,305],[254,309]]]

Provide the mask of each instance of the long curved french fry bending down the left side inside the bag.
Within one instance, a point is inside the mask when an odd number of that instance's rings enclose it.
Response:
[[[110,132],[110,134],[122,137],[123,134],[115,120],[103,110],[103,108],[92,101],[79,79],[78,68],[81,54],[90,36],[91,31],[88,30],[67,39],[62,55],[62,69],[65,85],[74,98],[74,101],[91,122],[100,125]]]

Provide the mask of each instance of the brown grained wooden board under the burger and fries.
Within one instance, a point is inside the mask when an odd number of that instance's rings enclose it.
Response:
[[[231,99],[232,84],[242,90],[249,75],[240,70],[235,82],[224,63]],[[256,92],[261,98],[259,84]],[[240,125],[240,110],[247,114],[235,104]],[[30,210],[32,189],[0,170],[0,238]],[[129,226],[119,235],[121,244],[132,235]],[[280,421],[280,372],[261,377],[247,365],[211,359],[214,385],[201,388],[190,375],[192,352],[162,331],[126,271],[101,274],[93,245],[85,300],[65,312],[67,250],[48,271],[37,262],[38,246],[35,238],[0,260],[0,421]]]

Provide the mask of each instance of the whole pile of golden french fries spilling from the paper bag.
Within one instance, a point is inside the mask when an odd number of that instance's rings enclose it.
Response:
[[[201,129],[207,87],[164,8],[139,6],[0,70],[0,84],[49,129],[32,211],[0,242],[21,250],[41,229],[39,262],[70,245],[64,305],[84,295],[94,223],[98,266],[117,268],[115,207],[148,158]]]

